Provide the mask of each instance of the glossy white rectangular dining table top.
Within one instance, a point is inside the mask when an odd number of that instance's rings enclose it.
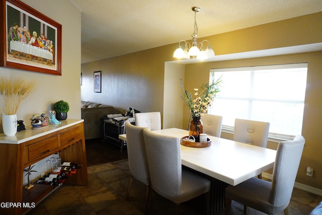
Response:
[[[178,138],[189,135],[187,130],[178,128],[153,132]],[[126,139],[126,135],[120,138]],[[206,148],[181,145],[182,165],[230,185],[237,185],[274,166],[275,150],[209,135],[208,138],[211,140],[211,145]]]

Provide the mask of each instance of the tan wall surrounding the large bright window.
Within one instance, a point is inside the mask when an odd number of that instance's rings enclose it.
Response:
[[[209,80],[209,70],[211,68],[307,62],[307,87],[305,94],[305,106],[302,128],[302,135],[305,138],[306,144],[303,150],[296,181],[302,184],[322,189],[322,159],[320,157],[320,155],[322,155],[322,148],[320,147],[320,143],[322,142],[322,135],[320,134],[319,126],[322,123],[322,114],[320,113],[322,101],[319,99],[320,95],[322,95],[321,58],[322,51],[319,51],[301,54],[251,58],[243,60],[228,60],[219,62],[189,64],[186,65],[185,84],[186,86],[190,86],[190,89],[187,90],[189,92],[193,92],[193,88],[197,88],[198,86],[200,86],[202,82],[204,82],[204,80]],[[196,79],[196,71],[199,71],[198,77],[200,78],[198,79]],[[274,87],[274,83],[272,83],[272,86]],[[189,110],[185,108],[184,121],[187,121],[188,114]],[[232,135],[227,133],[223,133],[222,137],[232,139]],[[269,142],[268,148],[276,150],[277,143]],[[306,176],[306,167],[308,166],[314,169],[313,177]],[[271,171],[269,172],[271,173]]]

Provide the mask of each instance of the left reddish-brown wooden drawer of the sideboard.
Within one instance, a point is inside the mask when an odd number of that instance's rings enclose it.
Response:
[[[28,146],[29,161],[37,159],[47,153],[53,152],[58,148],[58,136],[52,136],[45,140],[36,142]]]

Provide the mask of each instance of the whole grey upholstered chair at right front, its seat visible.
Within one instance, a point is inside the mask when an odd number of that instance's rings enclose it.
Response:
[[[225,190],[226,215],[230,213],[231,200],[260,210],[267,214],[277,214],[284,210],[291,199],[293,186],[301,160],[305,139],[301,135],[292,141],[278,144],[272,182],[251,178]]]

